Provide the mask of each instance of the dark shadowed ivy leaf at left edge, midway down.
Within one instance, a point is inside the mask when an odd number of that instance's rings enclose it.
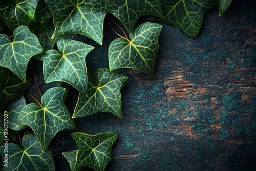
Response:
[[[0,109],[5,103],[22,95],[31,82],[31,78],[23,82],[8,68],[0,67]]]

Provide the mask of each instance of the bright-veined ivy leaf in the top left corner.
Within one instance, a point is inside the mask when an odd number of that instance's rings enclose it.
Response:
[[[2,22],[13,31],[16,27],[25,25],[32,31],[36,27],[35,9],[38,0],[1,0],[0,18]]]

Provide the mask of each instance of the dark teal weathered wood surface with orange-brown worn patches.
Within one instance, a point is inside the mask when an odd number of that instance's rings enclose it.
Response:
[[[195,39],[163,25],[156,75],[120,70],[129,76],[123,119],[98,113],[75,120],[89,134],[118,134],[105,170],[256,170],[255,9],[251,0],[233,1],[221,17],[210,10]],[[92,71],[108,67],[116,35],[108,27],[104,35],[103,46],[81,38],[96,47],[87,57]],[[77,148],[69,134],[58,137],[67,141],[58,152]],[[63,161],[57,170],[69,170],[61,153],[54,158]]]

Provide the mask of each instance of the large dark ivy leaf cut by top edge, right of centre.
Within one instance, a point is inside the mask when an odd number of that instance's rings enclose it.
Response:
[[[204,12],[214,8],[216,0],[161,0],[163,18],[158,21],[174,24],[186,35],[196,37],[203,23]]]

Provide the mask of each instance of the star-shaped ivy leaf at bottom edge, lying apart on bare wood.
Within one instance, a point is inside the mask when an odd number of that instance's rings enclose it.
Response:
[[[106,164],[112,161],[111,149],[116,142],[117,134],[88,135],[74,133],[72,137],[76,141],[79,150],[63,153],[70,163],[72,171],[79,170],[83,166],[100,171],[104,170]]]

